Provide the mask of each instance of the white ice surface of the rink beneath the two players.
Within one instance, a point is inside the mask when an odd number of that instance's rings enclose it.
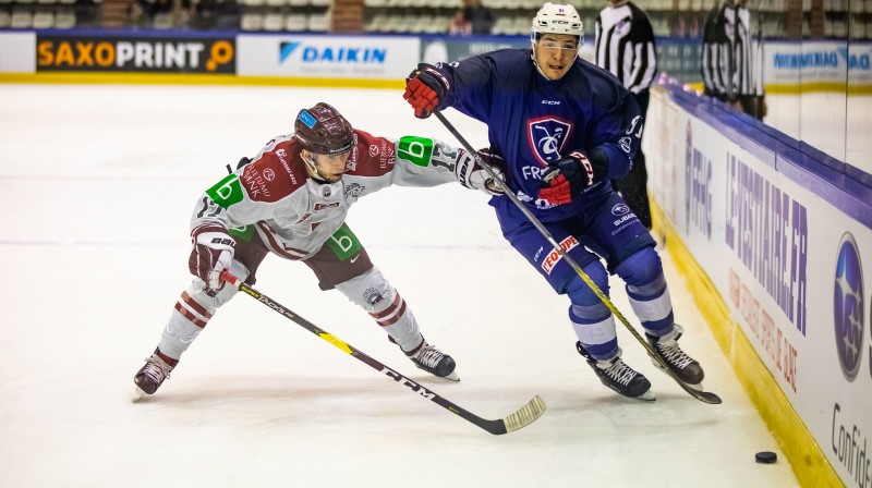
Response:
[[[154,396],[133,375],[190,281],[187,219],[225,164],[334,103],[379,135],[433,135],[390,90],[0,85],[0,486],[796,486],[786,457],[664,256],[706,405],[657,371],[621,326],[643,403],[574,351],[567,301],[500,236],[486,196],[391,187],[349,223],[462,380],[431,378],[338,292],[275,256],[256,288],[486,418],[534,394],[545,415],[495,437],[422,400],[249,296],[218,312]],[[449,110],[474,145],[486,131]],[[632,317],[622,286],[616,305]]]

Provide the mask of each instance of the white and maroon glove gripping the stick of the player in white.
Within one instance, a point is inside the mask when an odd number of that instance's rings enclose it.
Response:
[[[194,248],[187,259],[187,269],[206,283],[206,294],[215,296],[225,285],[221,271],[230,269],[237,242],[227,229],[209,223],[191,231],[191,243]]]

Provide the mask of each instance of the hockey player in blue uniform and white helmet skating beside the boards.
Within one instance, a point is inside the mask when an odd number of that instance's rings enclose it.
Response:
[[[491,147],[482,157],[508,168],[508,188],[604,293],[606,270],[625,281],[654,351],[678,378],[701,389],[700,364],[677,343],[682,329],[673,318],[655,242],[608,184],[629,171],[642,117],[617,78],[579,58],[583,35],[572,5],[545,3],[533,20],[531,49],[420,64],[403,97],[420,119],[452,107],[486,123]],[[577,349],[600,380],[626,396],[653,400],[649,380],[620,358],[609,308],[508,197],[494,196],[491,205],[506,240],[569,296]]]

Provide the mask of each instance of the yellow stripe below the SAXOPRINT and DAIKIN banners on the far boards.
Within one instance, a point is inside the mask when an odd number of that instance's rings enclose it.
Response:
[[[244,85],[402,89],[404,80],[301,78],[180,73],[0,73],[0,83],[112,85]]]

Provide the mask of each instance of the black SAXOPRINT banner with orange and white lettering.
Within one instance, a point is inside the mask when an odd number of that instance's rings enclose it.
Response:
[[[69,36],[39,34],[36,70],[235,73],[233,37]]]

